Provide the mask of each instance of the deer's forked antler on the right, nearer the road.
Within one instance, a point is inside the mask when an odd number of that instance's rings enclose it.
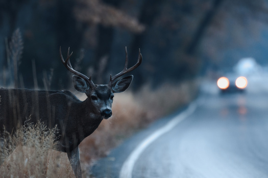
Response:
[[[140,53],[140,49],[139,49],[138,62],[134,66],[132,66],[131,68],[129,68],[129,69],[128,69],[128,62],[129,62],[129,59],[128,59],[128,51],[127,51],[127,47],[126,47],[126,62],[125,62],[124,69],[121,72],[119,72],[118,74],[114,75],[113,77],[112,77],[112,75],[110,76],[109,85],[111,85],[115,81],[115,79],[117,79],[118,77],[123,76],[126,73],[129,73],[129,72],[133,71],[134,69],[136,69],[137,67],[139,67],[139,65],[142,62],[142,55]]]

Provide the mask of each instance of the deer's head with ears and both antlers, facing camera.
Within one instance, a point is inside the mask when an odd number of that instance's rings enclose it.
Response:
[[[94,113],[102,115],[103,118],[109,118],[112,115],[111,108],[114,93],[121,93],[126,91],[133,79],[133,75],[129,75],[119,80],[116,79],[136,69],[141,64],[142,56],[140,50],[138,62],[128,69],[128,52],[126,47],[126,63],[124,69],[113,77],[110,76],[110,81],[108,84],[94,84],[91,80],[91,76],[88,78],[84,74],[74,70],[69,60],[71,54],[69,54],[68,49],[67,58],[64,60],[60,48],[62,63],[71,73],[75,74],[72,76],[72,83],[74,84],[74,87],[78,92],[85,93],[87,95],[87,100],[90,103],[89,107],[93,109]]]

